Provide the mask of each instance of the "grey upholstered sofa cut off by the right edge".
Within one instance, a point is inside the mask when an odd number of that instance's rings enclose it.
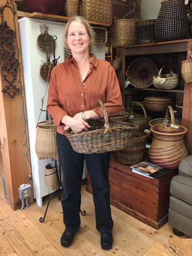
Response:
[[[192,237],[192,155],[181,160],[170,193],[169,224],[175,235]]]

